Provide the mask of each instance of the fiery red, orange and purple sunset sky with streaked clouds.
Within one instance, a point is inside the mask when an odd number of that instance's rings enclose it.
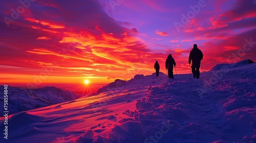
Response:
[[[204,70],[256,60],[256,1],[18,0],[0,2],[0,83],[110,83],[189,73],[198,44]]]

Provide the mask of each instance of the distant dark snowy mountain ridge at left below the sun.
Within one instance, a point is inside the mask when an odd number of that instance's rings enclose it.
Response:
[[[4,93],[4,86],[0,86],[0,92]],[[74,92],[50,86],[38,89],[8,87],[9,114],[46,107],[77,98]],[[1,98],[0,101],[3,103],[4,99]]]

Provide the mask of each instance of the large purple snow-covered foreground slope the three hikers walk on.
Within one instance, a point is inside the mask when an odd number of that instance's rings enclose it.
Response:
[[[8,142],[256,142],[256,64],[223,66],[200,79],[138,75],[16,113]]]

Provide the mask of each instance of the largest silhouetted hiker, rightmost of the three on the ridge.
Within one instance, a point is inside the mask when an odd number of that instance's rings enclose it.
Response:
[[[198,49],[197,44],[194,44],[193,49],[190,51],[189,54],[189,58],[188,58],[188,63],[190,66],[191,60],[192,60],[192,73],[193,73],[193,77],[197,79],[199,79],[200,76],[200,64],[201,64],[201,60],[203,59],[203,53],[201,50]]]

